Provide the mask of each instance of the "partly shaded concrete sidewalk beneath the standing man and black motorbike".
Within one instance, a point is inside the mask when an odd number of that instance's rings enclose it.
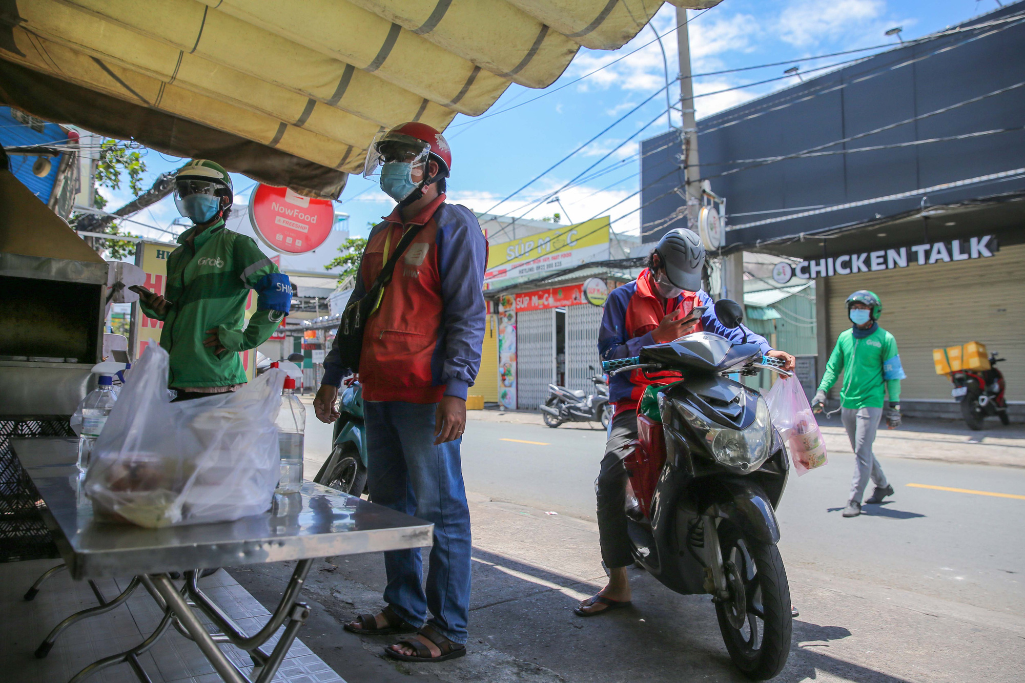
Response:
[[[469,497],[474,593],[465,657],[436,665],[384,658],[382,648],[401,636],[359,637],[341,629],[355,614],[380,609],[380,556],[315,565],[304,591],[315,616],[303,642],[350,683],[745,680],[729,661],[708,596],[675,595],[631,568],[632,607],[577,617],[572,607],[605,582],[597,525]],[[230,571],[258,599],[271,601],[291,567]],[[787,573],[802,616],[777,681],[1010,683],[1025,675],[1025,618],[1018,615],[824,573],[802,562],[788,564]]]

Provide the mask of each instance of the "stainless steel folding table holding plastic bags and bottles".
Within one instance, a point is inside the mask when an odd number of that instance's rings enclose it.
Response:
[[[434,525],[334,489],[305,482],[299,493],[276,495],[274,509],[236,522],[147,529],[93,518],[92,504],[82,494],[75,458],[76,439],[11,439],[11,447],[44,506],[40,512],[68,570],[76,579],[90,580],[99,606],[61,621],[37,650],[46,656],[59,633],[77,620],[114,609],[142,586],[164,611],[157,630],[131,650],[89,665],[72,682],[99,669],[126,662],[139,680],[149,682],[136,659],[173,626],[193,640],[224,681],[249,679],[220,651],[218,642],[246,650],[259,668],[257,683],[274,678],[309,607],[298,602],[302,582],[316,558],[430,546]],[[197,567],[227,567],[297,560],[295,571],[278,607],[258,633],[247,635],[197,585]],[[169,572],[181,572],[182,586]],[[31,599],[36,582],[27,598]],[[125,591],[107,600],[91,579],[133,575]],[[201,609],[220,629],[210,634],[193,607]],[[285,632],[270,653],[261,649],[283,625]],[[254,670],[255,671],[255,670]]]

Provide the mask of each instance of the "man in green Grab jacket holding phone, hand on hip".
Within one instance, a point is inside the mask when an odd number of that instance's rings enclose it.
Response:
[[[232,178],[219,164],[194,159],[178,169],[174,203],[194,225],[167,257],[167,298],[130,287],[142,312],[164,322],[160,346],[170,355],[167,386],[177,392],[175,401],[245,384],[237,352],[263,344],[291,307],[288,276],[251,237],[224,228],[233,201]],[[244,325],[252,290],[256,312]]]

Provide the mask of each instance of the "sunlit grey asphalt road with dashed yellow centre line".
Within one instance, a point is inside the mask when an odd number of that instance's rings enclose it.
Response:
[[[470,420],[463,437],[466,488],[497,500],[594,520],[598,430]],[[840,517],[854,455],[792,476],[778,510],[784,560],[835,576],[1025,615],[1025,469],[887,458],[892,501]],[[868,492],[871,491],[869,485]],[[867,495],[866,495],[867,497]]]

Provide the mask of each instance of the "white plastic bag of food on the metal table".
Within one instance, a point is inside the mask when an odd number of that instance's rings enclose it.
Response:
[[[280,477],[282,370],[236,392],[171,403],[167,352],[150,345],[96,440],[85,491],[147,527],[228,522],[271,505]]]

